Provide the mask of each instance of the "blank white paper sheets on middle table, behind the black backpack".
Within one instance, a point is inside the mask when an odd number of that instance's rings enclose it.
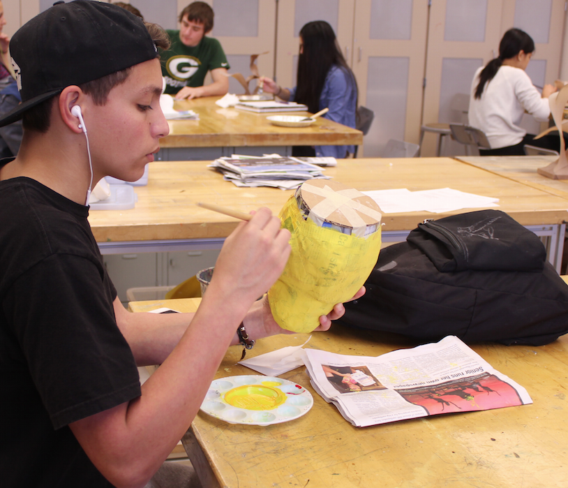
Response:
[[[409,191],[407,188],[364,191],[378,203],[384,214],[397,212],[454,212],[468,208],[499,207],[498,198],[465,193],[452,188]]]

